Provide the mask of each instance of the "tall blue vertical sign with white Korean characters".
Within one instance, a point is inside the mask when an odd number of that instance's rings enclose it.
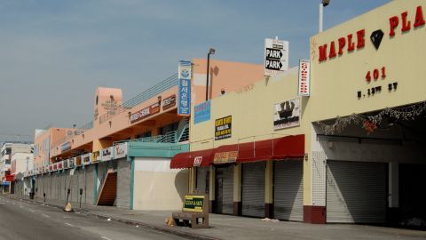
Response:
[[[191,113],[191,61],[180,60],[178,68],[178,98],[177,114],[190,115]]]

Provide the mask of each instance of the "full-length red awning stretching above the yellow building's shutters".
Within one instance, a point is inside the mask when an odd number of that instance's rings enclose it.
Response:
[[[224,145],[214,149],[180,153],[170,162],[170,168],[189,168],[208,166],[213,163],[217,153],[237,152],[237,163],[282,160],[304,157],[304,134],[281,137],[271,140],[258,140],[233,145]],[[199,163],[201,161],[201,163]]]

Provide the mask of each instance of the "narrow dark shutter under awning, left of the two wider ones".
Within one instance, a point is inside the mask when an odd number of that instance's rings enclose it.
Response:
[[[216,167],[216,213],[233,214],[233,165]]]

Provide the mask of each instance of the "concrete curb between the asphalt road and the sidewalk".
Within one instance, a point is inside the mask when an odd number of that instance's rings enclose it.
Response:
[[[59,205],[59,204],[50,204],[50,203],[44,203],[44,202],[40,202],[34,199],[26,199],[26,198],[20,198],[17,196],[9,196],[11,198],[14,199],[20,199],[23,201],[27,201],[30,202],[32,204],[40,204],[40,205],[45,205],[45,206],[50,206],[50,207],[54,207],[54,208],[58,208],[58,209],[63,209],[64,206]],[[109,215],[104,215],[104,214],[100,214],[100,213],[96,213],[96,212],[91,212],[90,210],[85,210],[83,208],[74,208],[74,213],[76,212],[82,212],[84,214],[87,214],[89,216],[92,217],[98,217],[99,219],[111,219],[111,220],[115,220],[118,222],[122,222],[128,225],[133,225],[133,226],[140,226],[143,228],[150,228],[156,231],[160,231],[160,232],[164,232],[164,233],[169,233],[169,234],[173,234],[176,236],[183,236],[186,238],[191,238],[191,239],[200,239],[200,240],[221,240],[221,238],[217,238],[217,237],[213,237],[213,236],[205,236],[205,235],[201,235],[201,234],[196,234],[196,233],[190,233],[188,231],[185,230],[180,230],[177,228],[184,228],[184,227],[170,227],[170,228],[166,228],[166,227],[162,227],[159,225],[155,225],[155,224],[150,224],[150,223],[146,223],[143,221],[137,221],[137,220],[126,220],[126,219],[122,219],[122,218],[117,218],[114,216],[109,216]],[[188,228],[191,229],[192,228]]]

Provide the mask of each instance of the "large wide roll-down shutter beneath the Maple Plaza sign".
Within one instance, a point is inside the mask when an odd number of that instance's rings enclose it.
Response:
[[[383,223],[387,164],[327,161],[327,222]]]

